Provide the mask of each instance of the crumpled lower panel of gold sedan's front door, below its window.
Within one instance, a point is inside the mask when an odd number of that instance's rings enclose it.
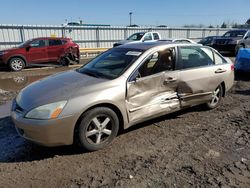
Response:
[[[175,78],[168,82],[167,78]],[[180,108],[176,92],[178,72],[160,73],[127,84],[126,107],[130,122]]]

